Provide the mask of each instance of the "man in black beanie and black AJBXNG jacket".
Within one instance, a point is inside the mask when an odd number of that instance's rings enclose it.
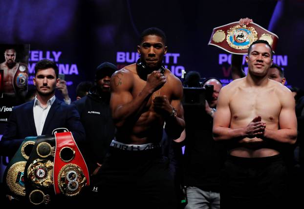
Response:
[[[86,143],[80,146],[90,175],[97,173],[114,138],[110,99],[110,77],[117,70],[112,63],[100,64],[95,73],[95,85],[87,96],[74,102],[85,127]]]

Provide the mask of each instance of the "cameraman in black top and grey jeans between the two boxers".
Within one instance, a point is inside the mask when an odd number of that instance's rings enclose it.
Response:
[[[201,84],[198,83],[197,86],[191,87],[200,86]],[[212,125],[222,84],[218,79],[210,78],[206,79],[202,86],[205,104],[204,102],[199,102],[197,105],[190,104],[189,109],[186,105],[184,106],[186,120],[185,185],[188,199],[185,209],[219,209],[219,173],[226,151],[221,143],[213,140]],[[201,118],[201,121],[194,122],[196,120],[192,120],[193,118]]]

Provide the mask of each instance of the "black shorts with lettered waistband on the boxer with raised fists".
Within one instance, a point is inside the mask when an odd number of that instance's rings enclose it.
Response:
[[[104,163],[93,177],[90,197],[101,208],[177,208],[169,160],[157,143],[130,145],[112,141]]]

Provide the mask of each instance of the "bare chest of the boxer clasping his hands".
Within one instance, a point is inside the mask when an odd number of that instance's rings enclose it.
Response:
[[[230,101],[232,120],[261,116],[262,121],[278,121],[281,103],[273,89],[238,89]]]

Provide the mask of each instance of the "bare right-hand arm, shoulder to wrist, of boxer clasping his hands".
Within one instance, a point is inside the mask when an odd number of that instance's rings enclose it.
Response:
[[[271,130],[266,126],[264,138],[282,143],[295,144],[297,140],[295,100],[287,88],[280,94],[279,98],[281,99],[282,109],[279,116],[279,130]]]

